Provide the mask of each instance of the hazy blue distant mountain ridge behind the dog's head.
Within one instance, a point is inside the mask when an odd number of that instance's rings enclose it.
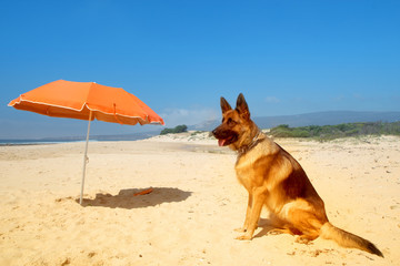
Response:
[[[307,125],[337,125],[356,122],[396,122],[400,121],[400,112],[353,112],[353,111],[330,111],[306,113],[297,115],[259,116],[253,121],[260,129],[271,129],[277,125],[288,124],[289,126]],[[220,124],[220,121],[207,121],[204,123],[189,126],[189,130],[211,131]]]

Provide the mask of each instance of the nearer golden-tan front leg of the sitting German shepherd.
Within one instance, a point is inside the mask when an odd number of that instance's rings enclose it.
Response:
[[[266,202],[266,193],[263,190],[254,190],[254,192],[249,195],[249,198],[250,197],[251,200],[249,200],[249,202],[251,201],[251,208],[248,208],[244,222],[247,231],[244,235],[237,237],[239,241],[250,241],[252,238],[254,231],[258,227],[262,206]]]

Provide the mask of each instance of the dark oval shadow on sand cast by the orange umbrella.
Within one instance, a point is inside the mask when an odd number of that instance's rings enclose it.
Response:
[[[138,195],[138,193],[152,190],[151,193]],[[83,207],[109,207],[109,208],[143,208],[157,206],[162,203],[177,203],[186,201],[192,193],[173,187],[148,187],[121,190],[118,195],[97,193],[94,198],[83,198]],[[79,203],[79,200],[77,200]]]

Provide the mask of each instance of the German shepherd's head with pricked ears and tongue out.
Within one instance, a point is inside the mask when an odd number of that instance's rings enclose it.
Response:
[[[236,109],[221,98],[222,124],[212,131],[220,146],[234,151],[249,145],[258,133],[258,127],[250,119],[249,106],[242,93],[239,94]]]

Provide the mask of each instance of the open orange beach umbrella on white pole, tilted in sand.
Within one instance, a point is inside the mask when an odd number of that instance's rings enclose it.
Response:
[[[82,204],[90,122],[94,119],[134,125],[164,124],[163,120],[137,96],[121,88],[100,85],[96,82],[58,80],[21,94],[9,106],[49,116],[88,120],[88,134],[83,157],[80,194]]]

